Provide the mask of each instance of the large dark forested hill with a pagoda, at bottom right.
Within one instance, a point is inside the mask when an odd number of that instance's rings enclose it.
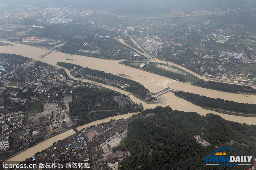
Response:
[[[255,125],[229,122],[219,115],[201,116],[195,112],[173,111],[168,106],[157,106],[141,114],[155,115],[134,119],[129,124],[121,147],[128,149],[132,156],[123,160],[124,170],[139,169],[138,166],[140,169],[223,169],[221,166],[205,165],[205,157],[217,150],[214,146],[218,149],[232,148],[241,155],[255,153]],[[204,133],[206,141],[212,145],[202,147],[196,143],[193,136],[200,133]],[[235,142],[228,144],[230,140]],[[151,156],[148,154],[150,149]],[[236,155],[227,151],[228,154]],[[246,166],[236,168],[244,169]]]

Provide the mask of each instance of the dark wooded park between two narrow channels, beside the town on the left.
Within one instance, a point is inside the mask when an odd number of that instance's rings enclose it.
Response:
[[[114,95],[120,95],[120,93],[86,86],[74,89],[72,92],[73,99],[69,103],[69,114],[78,118],[76,126],[132,111],[130,102],[125,107],[120,107],[119,103],[113,99]]]

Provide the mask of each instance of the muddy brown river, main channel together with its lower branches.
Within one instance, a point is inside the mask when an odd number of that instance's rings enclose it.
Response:
[[[103,59],[80,56],[80,55],[72,55],[71,56],[69,54],[55,52],[55,51],[46,55],[43,58],[39,58],[40,55],[44,54],[48,50],[31,47],[31,46],[27,46],[27,45],[22,45],[22,44],[17,44],[17,43],[13,43],[13,44],[14,44],[14,46],[1,46],[0,52],[23,55],[25,57],[29,57],[34,60],[39,60],[39,61],[51,64],[53,66],[57,66],[57,62],[60,61],[60,62],[78,64],[83,67],[90,67],[91,69],[102,70],[102,71],[112,73],[112,74],[124,73],[124,74],[130,76],[129,79],[132,79],[134,81],[141,83],[146,88],[148,88],[148,90],[150,90],[150,92],[153,92],[153,93],[159,92],[159,91],[163,90],[164,88],[169,87],[169,88],[172,88],[175,90],[198,93],[198,94],[204,95],[204,96],[209,96],[209,97],[214,97],[214,98],[222,98],[224,100],[234,100],[237,102],[256,104],[256,95],[234,94],[234,93],[228,93],[228,92],[220,92],[220,91],[211,90],[211,89],[204,89],[201,87],[196,87],[193,85],[175,81],[170,78],[165,78],[163,76],[148,73],[143,70],[124,66],[124,65],[118,63],[120,61],[116,61],[116,60],[103,60]],[[72,58],[73,61],[66,60],[66,58]],[[59,66],[57,66],[57,67],[59,67]],[[68,70],[66,72],[69,74]],[[97,82],[93,82],[91,80],[84,80],[84,79],[82,81],[97,83]],[[97,84],[128,95],[132,101],[134,101],[138,104],[142,103],[144,109],[154,108],[157,106],[157,104],[147,104],[147,103],[135,98],[129,92],[118,89],[116,87],[112,87],[112,86],[108,86],[108,85],[104,85],[104,84],[100,84],[100,83],[97,83]],[[226,115],[226,114],[221,114],[218,112],[208,111],[208,110],[202,109],[201,107],[195,106],[192,103],[190,103],[184,99],[176,97],[172,92],[164,93],[159,97],[165,101],[165,104],[160,104],[161,106],[164,107],[164,106],[169,105],[170,107],[172,107],[173,110],[180,110],[180,111],[186,111],[186,112],[197,112],[200,115],[206,115],[207,113],[211,112],[211,113],[220,115],[221,117],[223,117],[226,120],[236,121],[236,122],[240,122],[240,123],[245,122],[247,124],[256,124],[256,118]],[[130,114],[126,114],[126,115],[118,115],[118,116],[110,117],[107,119],[98,120],[98,121],[91,122],[91,123],[85,124],[83,126],[77,127],[77,129],[80,130],[80,129],[83,129],[84,127],[88,127],[90,125],[97,125],[101,122],[108,122],[110,119],[127,118],[127,117],[131,116],[132,114],[134,114],[134,113],[130,113]],[[58,136],[52,137],[40,144],[37,144],[34,147],[29,148],[28,150],[18,154],[17,156],[15,156],[9,160],[19,160],[19,161],[25,160],[26,158],[33,156],[36,152],[41,151],[42,149],[44,150],[45,148],[49,147],[50,145],[52,145],[53,142],[57,142],[58,139],[63,139],[65,137],[70,136],[71,134],[74,134],[73,130],[66,131]]]

